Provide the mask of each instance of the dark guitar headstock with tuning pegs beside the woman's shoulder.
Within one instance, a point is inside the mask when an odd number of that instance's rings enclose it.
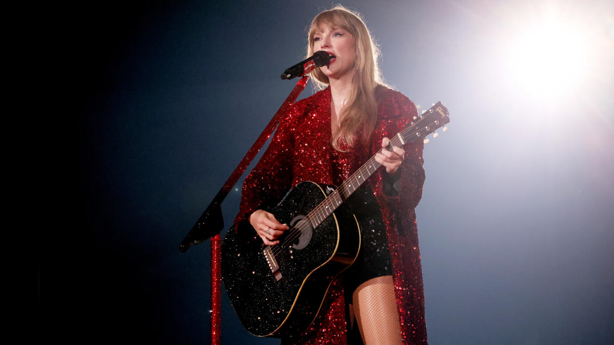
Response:
[[[426,138],[430,133],[435,132],[437,128],[443,127],[443,131],[447,131],[446,123],[450,122],[448,108],[443,106],[441,102],[437,102],[430,107],[429,110],[422,112],[422,115],[414,117],[414,120],[408,125],[405,130],[397,134],[400,142],[414,142],[418,139],[424,139],[424,144],[429,142]],[[437,138],[439,134],[433,134],[433,138]]]

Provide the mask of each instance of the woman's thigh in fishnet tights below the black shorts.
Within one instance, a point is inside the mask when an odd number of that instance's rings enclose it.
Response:
[[[352,301],[365,345],[403,343],[392,276],[375,277],[363,282],[354,291]]]

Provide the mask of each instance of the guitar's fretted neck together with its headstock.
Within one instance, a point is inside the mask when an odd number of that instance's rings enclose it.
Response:
[[[440,128],[448,122],[450,122],[448,109],[446,109],[441,102],[438,102],[421,116],[414,117],[413,122],[391,139],[386,149],[392,150],[393,146],[403,147],[403,145],[409,142],[425,138],[428,134],[433,133],[437,128]],[[381,152],[381,149],[378,153],[379,152]],[[361,185],[367,182],[369,177],[375,174],[381,166],[382,165],[375,160],[375,155],[369,158],[367,163],[363,164],[352,174],[352,176],[343,181],[343,183],[336,188],[336,190],[331,192],[322,203],[306,215],[306,219],[309,220],[311,226],[316,228],[320,225],[324,219],[341,206],[352,193],[356,192]]]

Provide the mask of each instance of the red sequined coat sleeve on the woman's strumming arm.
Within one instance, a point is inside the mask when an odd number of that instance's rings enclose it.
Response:
[[[290,109],[287,117],[279,123],[262,158],[243,182],[241,206],[235,218],[235,226],[257,209],[281,200],[292,187],[295,118],[300,113],[300,105]]]

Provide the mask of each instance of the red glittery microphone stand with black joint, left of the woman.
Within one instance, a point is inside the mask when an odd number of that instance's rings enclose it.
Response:
[[[290,109],[290,106],[297,100],[298,95],[305,90],[305,86],[309,80],[309,76],[304,76],[298,80],[297,85],[292,89],[286,101],[279,107],[279,110],[275,113],[271,121],[266,125],[265,130],[260,134],[258,139],[254,142],[251,149],[247,151],[241,163],[236,167],[235,171],[228,177],[226,183],[217,192],[213,201],[209,204],[207,209],[204,210],[203,215],[200,216],[196,224],[192,227],[192,230],[185,236],[184,240],[179,244],[179,250],[186,252],[193,244],[199,244],[206,239],[211,238],[211,344],[219,345],[222,339],[222,252],[220,251],[220,231],[224,227],[224,220],[222,216],[222,209],[220,204],[226,198],[232,187],[239,180],[239,177],[243,175],[247,166],[254,160],[257,153],[262,149],[266,140],[270,138],[271,133],[275,130],[281,116],[286,114]]]

